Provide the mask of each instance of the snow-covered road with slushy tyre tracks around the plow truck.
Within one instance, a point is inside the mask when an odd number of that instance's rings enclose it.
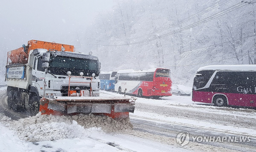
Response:
[[[8,110],[6,108],[5,89],[1,90],[0,95],[2,96],[0,100],[0,113],[2,113],[0,126],[5,130],[11,129],[9,134],[13,134],[15,141],[21,143],[19,145],[23,147],[24,151],[256,151],[256,110],[219,108],[211,104],[194,103],[191,101],[191,97],[176,95],[161,99],[138,98],[135,101],[135,112],[130,113],[130,122],[133,124],[132,130],[106,133],[97,127],[86,129],[68,118],[60,121],[58,117],[51,117],[47,118],[48,122],[26,124],[26,126],[23,124],[23,127],[34,132],[37,130],[39,134],[42,130],[36,127],[40,125],[53,129],[53,133],[56,134],[58,132],[61,134],[62,130],[66,129],[69,132],[68,136],[65,138],[60,136],[58,139],[58,135],[56,135],[58,140],[53,141],[25,142],[24,139],[27,138],[22,137],[24,133],[21,133],[19,129],[22,127],[20,123],[30,122],[30,119],[35,118],[28,117],[27,113],[15,113]],[[123,95],[101,91],[101,96]],[[14,120],[20,118],[25,118],[25,120],[14,121],[6,116],[12,116],[11,118]],[[36,121],[39,122],[41,119],[39,115]],[[80,135],[70,128],[78,128]],[[190,134],[190,142],[183,147],[179,147],[176,141],[176,136],[180,132]],[[249,136],[251,140],[250,142],[193,142],[192,137],[198,136]],[[21,139],[20,141],[18,137]],[[7,142],[8,140],[4,141]],[[3,147],[7,145],[8,149],[8,144],[13,145],[13,143],[7,142]],[[0,147],[2,146],[0,145]],[[2,151],[8,151],[7,149]],[[20,149],[20,151],[23,150]]]

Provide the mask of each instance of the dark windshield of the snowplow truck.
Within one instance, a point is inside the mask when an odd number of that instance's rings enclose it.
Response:
[[[98,64],[97,60],[52,55],[48,70],[55,75],[67,75],[67,71],[71,71],[73,76],[80,76],[80,72],[83,72],[83,76],[92,76],[93,73],[98,76]]]

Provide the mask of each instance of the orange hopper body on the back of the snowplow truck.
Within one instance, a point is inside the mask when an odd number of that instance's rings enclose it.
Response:
[[[61,51],[61,48],[65,48],[65,51],[75,52],[74,46],[70,46],[67,44],[30,40],[30,41],[28,41],[28,45],[26,46],[25,50],[23,47],[21,47],[21,48],[9,51],[7,53],[7,56],[8,56],[8,58],[11,59],[11,61],[12,61],[11,64],[15,64],[15,63],[26,64],[26,63],[28,63],[28,55],[29,55],[30,50],[54,49],[57,51]]]

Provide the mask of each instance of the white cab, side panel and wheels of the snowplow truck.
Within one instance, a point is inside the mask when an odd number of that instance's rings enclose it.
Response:
[[[6,66],[8,107],[36,114],[42,97],[69,96],[70,91],[79,96],[81,90],[99,96],[99,69],[100,62],[93,55],[51,49],[31,50],[26,64]]]

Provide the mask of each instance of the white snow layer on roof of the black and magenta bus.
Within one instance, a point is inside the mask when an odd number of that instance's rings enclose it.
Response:
[[[202,70],[256,70],[256,65],[208,65],[199,68],[197,71]]]

